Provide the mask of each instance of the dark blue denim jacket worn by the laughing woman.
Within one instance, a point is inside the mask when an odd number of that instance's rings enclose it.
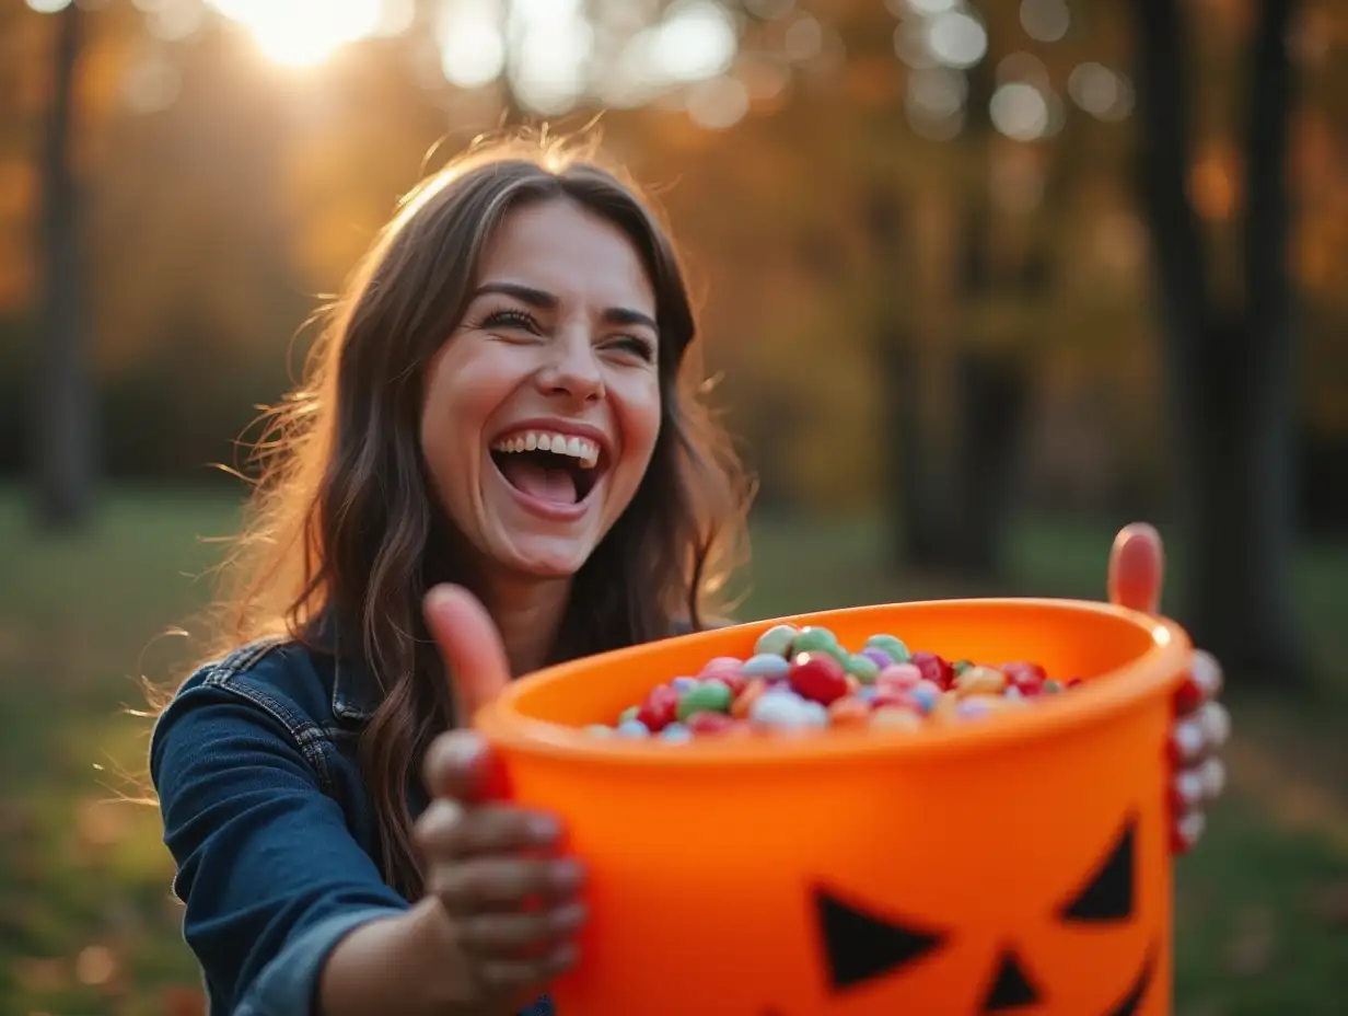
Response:
[[[410,908],[380,874],[356,757],[376,703],[364,667],[267,640],[202,667],[156,722],[150,770],[214,1016],[314,1013],[337,942]]]

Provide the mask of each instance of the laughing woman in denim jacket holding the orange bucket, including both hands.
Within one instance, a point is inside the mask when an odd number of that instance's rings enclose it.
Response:
[[[561,150],[477,150],[380,235],[268,444],[225,645],[155,727],[212,1012],[550,1012],[585,873],[553,816],[481,803],[457,727],[512,675],[702,623],[745,502],[696,352],[656,219]],[[1126,530],[1113,598],[1159,582]],[[1221,788],[1211,657],[1194,684],[1178,847]]]

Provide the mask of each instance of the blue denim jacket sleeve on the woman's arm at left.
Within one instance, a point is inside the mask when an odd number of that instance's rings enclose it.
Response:
[[[262,704],[189,683],[151,741],[183,936],[235,1016],[317,1012],[338,940],[408,908],[324,793],[302,739]]]

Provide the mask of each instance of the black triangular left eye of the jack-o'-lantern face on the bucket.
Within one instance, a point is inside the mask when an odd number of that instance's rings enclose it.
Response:
[[[863,984],[926,955],[945,935],[859,911],[814,886],[814,915],[833,990]]]

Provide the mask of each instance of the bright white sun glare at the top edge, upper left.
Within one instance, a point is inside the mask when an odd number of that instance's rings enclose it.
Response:
[[[338,47],[380,26],[380,0],[212,0],[212,7],[245,26],[276,63],[321,63]]]

